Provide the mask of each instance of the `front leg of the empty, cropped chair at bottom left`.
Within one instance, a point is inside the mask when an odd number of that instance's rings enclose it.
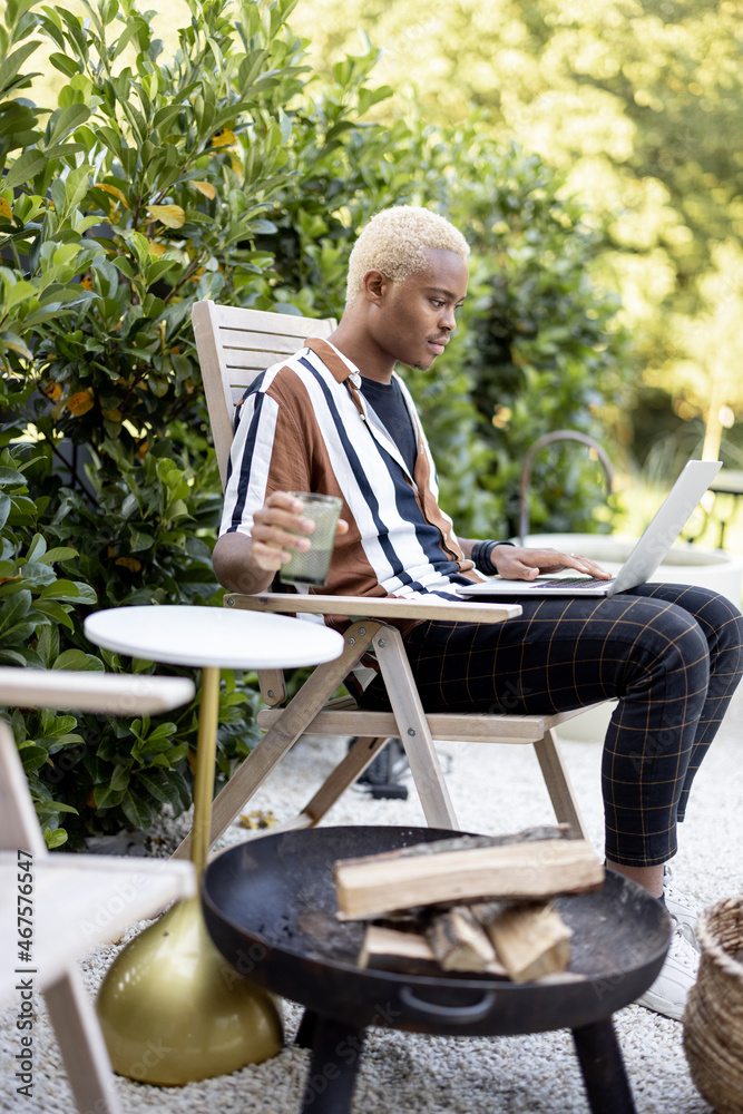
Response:
[[[77,968],[47,987],[43,997],[77,1108],[120,1114],[104,1035]]]

